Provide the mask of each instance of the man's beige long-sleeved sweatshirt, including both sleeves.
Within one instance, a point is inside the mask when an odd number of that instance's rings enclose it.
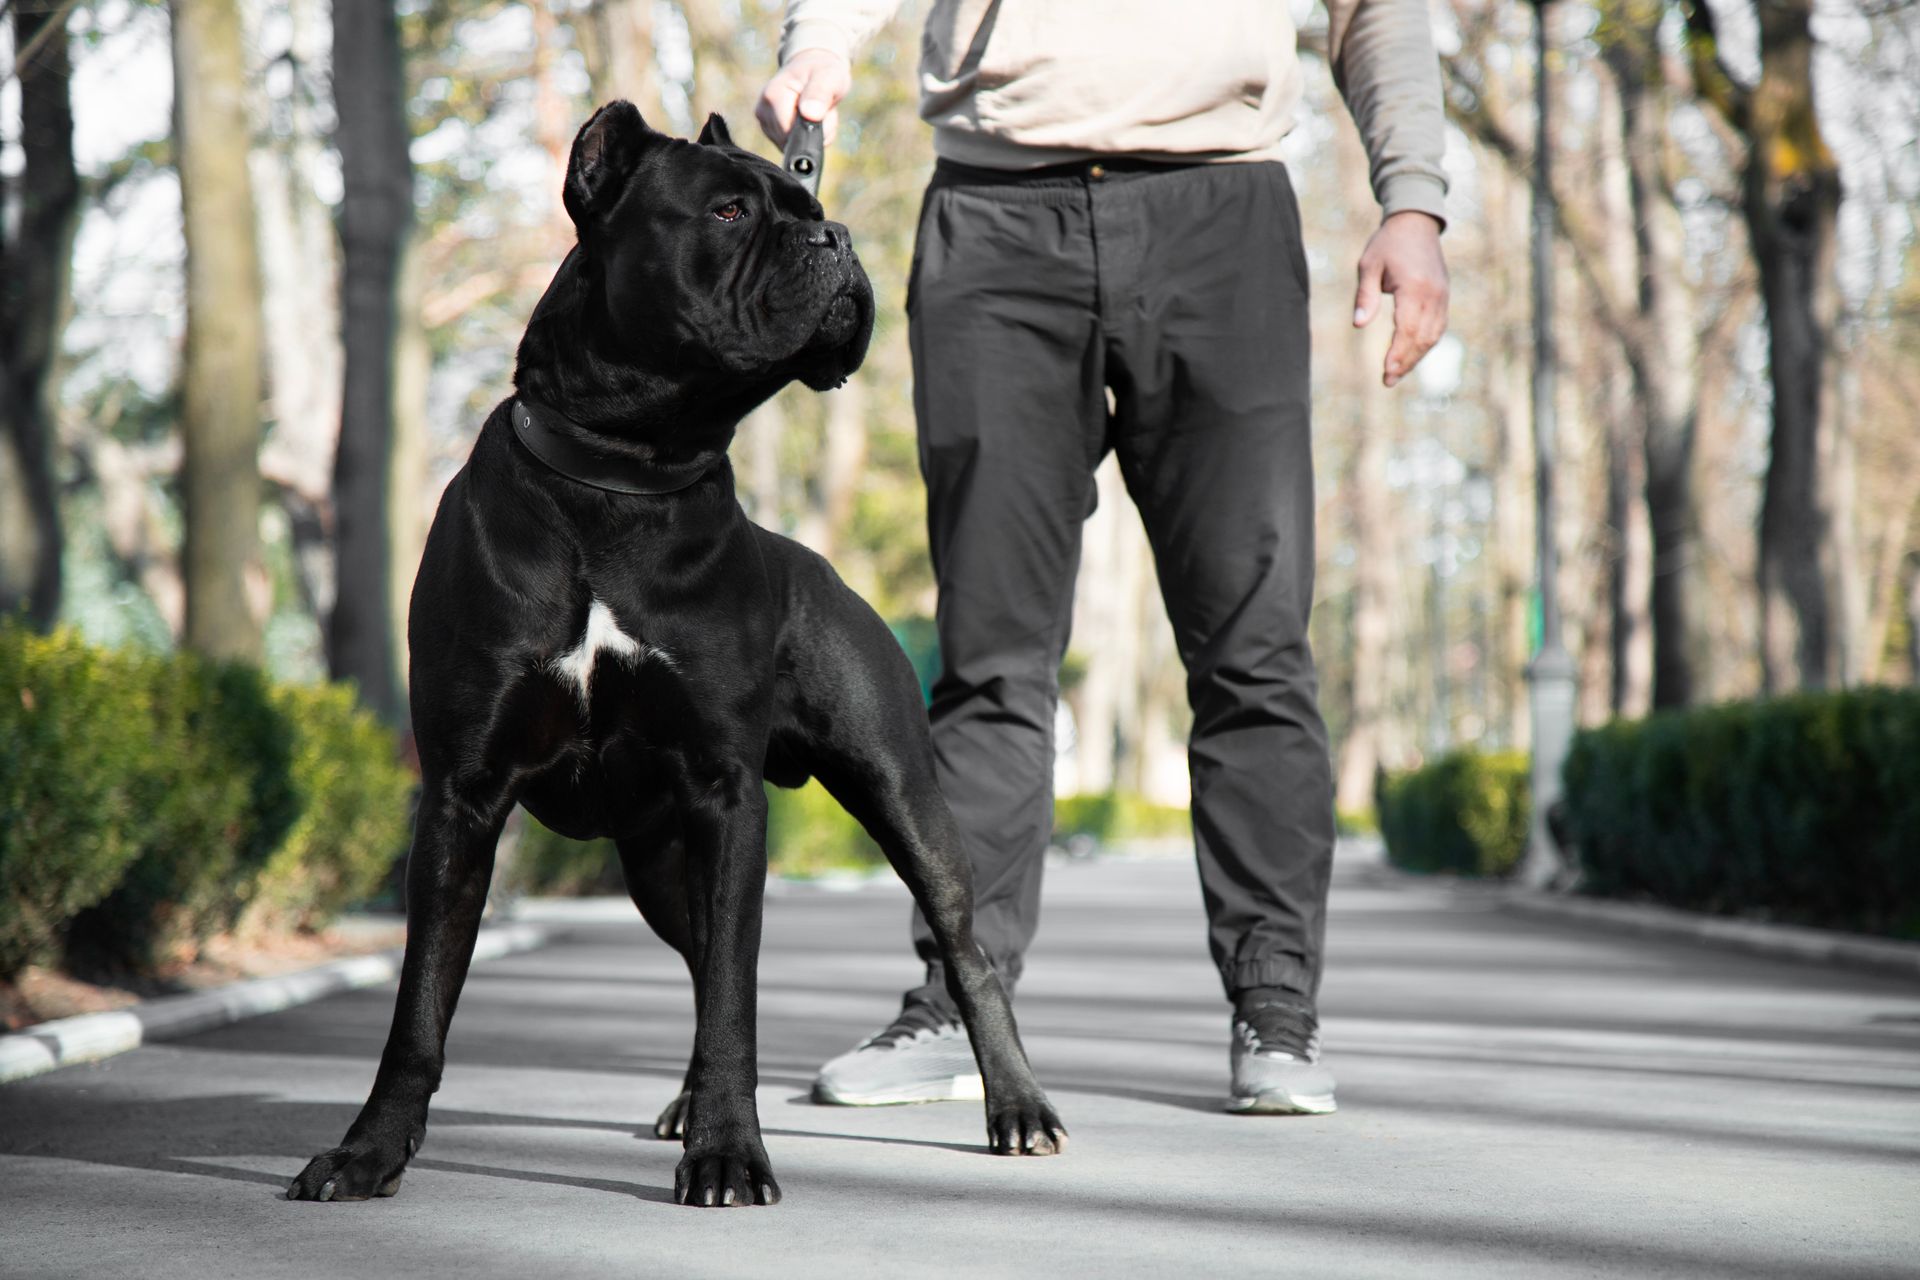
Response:
[[[780,59],[852,58],[900,0],[787,0]],[[1427,0],[1327,0],[1334,83],[1384,213],[1446,219]],[[920,115],[937,155],[1031,169],[1094,155],[1277,159],[1300,111],[1286,0],[933,0]],[[1382,213],[1382,215],[1384,215]]]

